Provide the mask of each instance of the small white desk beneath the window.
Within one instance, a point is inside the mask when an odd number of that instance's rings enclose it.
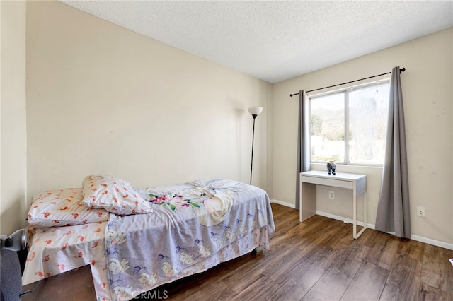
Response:
[[[357,239],[367,228],[367,176],[337,172],[328,175],[327,171],[311,170],[300,173],[299,214],[300,221],[316,214],[316,185],[352,189],[352,236]],[[363,228],[357,233],[357,196],[365,194],[363,202]]]

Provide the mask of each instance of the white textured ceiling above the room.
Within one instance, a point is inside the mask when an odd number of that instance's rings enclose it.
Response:
[[[61,1],[270,83],[453,26],[453,1]]]

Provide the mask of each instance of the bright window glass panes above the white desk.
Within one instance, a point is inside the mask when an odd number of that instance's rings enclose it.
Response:
[[[311,162],[382,165],[389,81],[309,97]]]

